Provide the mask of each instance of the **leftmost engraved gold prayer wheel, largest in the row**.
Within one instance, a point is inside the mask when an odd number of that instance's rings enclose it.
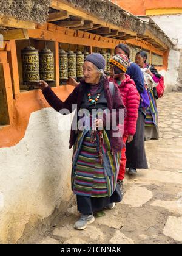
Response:
[[[24,84],[39,82],[39,53],[33,46],[27,46],[22,53]]]

